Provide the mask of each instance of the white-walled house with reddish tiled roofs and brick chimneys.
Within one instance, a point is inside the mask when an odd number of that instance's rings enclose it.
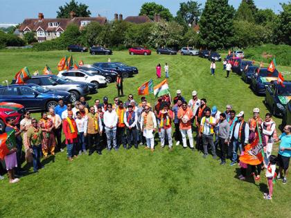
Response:
[[[76,17],[75,12],[70,13],[70,18],[53,18],[45,19],[42,13],[38,14],[38,19],[24,19],[19,28],[19,37],[23,37],[25,33],[35,32],[38,42],[55,39],[66,30],[69,24],[76,24],[80,30],[87,26],[90,22],[95,21],[101,25],[107,22],[106,17]]]

